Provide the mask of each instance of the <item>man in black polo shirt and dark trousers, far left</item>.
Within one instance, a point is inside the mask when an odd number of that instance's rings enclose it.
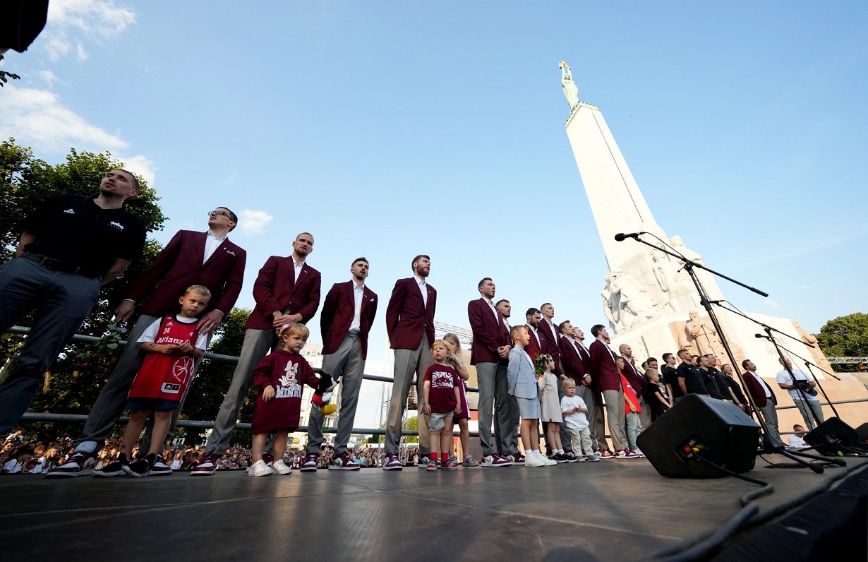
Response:
[[[0,386],[0,432],[15,426],[43,374],[90,314],[100,286],[141,255],[145,226],[124,208],[139,182],[110,170],[95,198],[58,195],[23,224],[16,257],[0,266],[0,333],[33,311],[30,336]]]

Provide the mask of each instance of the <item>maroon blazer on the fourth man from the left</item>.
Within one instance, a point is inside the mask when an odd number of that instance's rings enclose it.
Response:
[[[356,282],[335,283],[325,295],[323,312],[319,314],[322,329],[323,354],[338,351],[356,315]],[[358,314],[358,339],[362,342],[362,359],[368,358],[368,333],[377,315],[377,294],[365,285],[362,292],[362,310]]]

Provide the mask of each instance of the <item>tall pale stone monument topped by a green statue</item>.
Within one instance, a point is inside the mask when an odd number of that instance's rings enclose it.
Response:
[[[641,359],[654,356],[661,360],[661,354],[674,353],[683,347],[693,354],[716,354],[722,363],[730,363],[719,334],[700,305],[693,281],[682,268],[683,262],[633,240],[622,238],[621,241],[615,241],[615,235],[619,233],[643,233],[642,239],[645,241],[658,246],[664,246],[665,242],[688,259],[704,263],[698,253],[685,247],[681,236],[667,235],[654,220],[648,202],[630,173],[602,111],[579,101],[579,89],[573,80],[572,70],[564,62],[559,66],[563,94],[569,104],[569,117],[565,125],[567,137],[582,176],[609,269],[602,288],[601,304],[613,331],[612,342],[628,343],[633,347],[635,356]],[[630,237],[635,237],[635,234],[627,236]],[[655,241],[655,237],[658,240]],[[710,300],[724,298],[712,274],[698,268],[695,272]],[[735,355],[736,364],[733,368],[740,372],[741,361],[750,359],[756,363],[760,376],[773,379],[781,367],[772,343],[754,337],[754,334],[762,332],[762,328],[720,308],[715,313]],[[796,340],[816,345],[816,339],[806,334],[798,322],[766,314],[748,315],[784,334],[792,335]],[[781,337],[780,343],[820,367],[832,370],[819,347],[811,349],[799,341]],[[793,364],[807,371],[806,367],[802,367],[804,361],[793,357]],[[825,378],[819,369],[813,368],[813,371],[818,378]],[[865,392],[865,388],[855,380],[842,381],[834,386],[847,382],[861,387],[857,391],[858,395]],[[778,393],[777,384],[770,386]],[[836,390],[849,393],[855,388]],[[785,391],[780,391],[779,396],[783,397],[784,394]],[[830,397],[834,400],[831,393]],[[783,403],[787,401],[783,400]]]

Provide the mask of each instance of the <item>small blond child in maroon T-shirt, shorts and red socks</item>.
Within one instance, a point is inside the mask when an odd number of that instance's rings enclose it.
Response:
[[[444,470],[457,470],[457,459],[450,455],[452,450],[452,415],[461,411],[461,399],[458,388],[461,379],[455,369],[446,363],[449,357],[449,346],[443,340],[437,340],[431,346],[431,356],[434,364],[425,371],[422,390],[422,406],[425,415],[429,416],[428,429],[431,432],[431,456],[428,470],[437,470],[437,465]],[[443,451],[443,453],[440,453]],[[438,463],[438,459],[442,462]]]

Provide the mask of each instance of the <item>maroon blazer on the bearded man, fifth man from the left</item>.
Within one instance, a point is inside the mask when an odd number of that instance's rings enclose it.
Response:
[[[392,349],[416,349],[422,336],[428,345],[434,343],[434,311],[437,308],[437,290],[425,283],[428,306],[422,300],[415,277],[398,279],[385,308],[385,331]]]

